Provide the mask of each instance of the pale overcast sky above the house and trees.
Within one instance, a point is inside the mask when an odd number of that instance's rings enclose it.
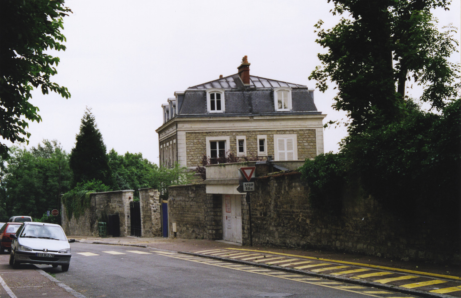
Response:
[[[459,28],[460,1],[453,2],[437,17],[440,25]],[[107,150],[141,152],[157,164],[161,104],[175,91],[235,74],[245,55],[251,75],[313,89],[307,78],[319,65],[317,53],[325,51],[315,43],[313,25],[322,19],[331,28],[338,19],[326,0],[65,3],[73,11],[64,18],[67,50],[53,53],[61,62],[52,80],[66,86],[71,98],[33,93],[43,121],[30,123],[30,146],[56,139],[70,152],[88,106]],[[314,92],[317,109],[327,114],[324,123],[344,117],[331,108],[334,94],[332,88]],[[337,152],[345,134],[343,128],[325,129],[325,152]]]

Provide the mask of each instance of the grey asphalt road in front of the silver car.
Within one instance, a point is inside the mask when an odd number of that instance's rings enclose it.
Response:
[[[72,243],[69,271],[38,265],[87,298],[411,297],[148,248]]]

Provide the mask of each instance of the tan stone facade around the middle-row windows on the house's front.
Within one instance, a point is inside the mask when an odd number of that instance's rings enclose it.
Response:
[[[246,136],[247,156],[257,157],[257,135],[267,136],[267,154],[274,156],[274,134],[297,134],[298,160],[312,159],[317,155],[315,129],[267,130],[232,132],[186,132],[187,166],[201,166],[202,157],[207,152],[206,137],[229,136],[229,152],[236,155],[236,136]]]

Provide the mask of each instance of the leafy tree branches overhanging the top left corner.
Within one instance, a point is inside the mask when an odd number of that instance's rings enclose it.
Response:
[[[40,122],[38,107],[29,102],[34,88],[43,94],[56,92],[69,98],[66,87],[50,81],[56,75],[53,65],[59,57],[46,50],[63,50],[63,17],[72,11],[64,0],[0,1],[0,136],[14,142],[27,142],[27,120]],[[24,119],[25,118],[25,119]],[[0,143],[0,156],[6,159],[6,144]]]

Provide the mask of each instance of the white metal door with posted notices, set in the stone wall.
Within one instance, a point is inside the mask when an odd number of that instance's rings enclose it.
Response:
[[[223,239],[242,243],[240,195],[223,195]]]

